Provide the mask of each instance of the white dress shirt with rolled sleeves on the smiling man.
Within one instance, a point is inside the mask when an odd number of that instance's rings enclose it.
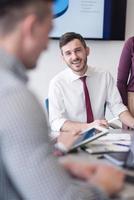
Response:
[[[105,103],[115,117],[127,110],[109,72],[88,67],[85,75],[94,120],[105,118]],[[66,120],[86,122],[83,83],[79,78],[70,68],[66,68],[50,82],[49,120],[54,131],[59,131]]]

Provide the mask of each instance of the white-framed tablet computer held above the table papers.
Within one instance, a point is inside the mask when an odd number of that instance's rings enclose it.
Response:
[[[92,142],[93,140],[96,140],[99,137],[102,137],[103,135],[108,133],[108,129],[103,127],[93,127],[84,130],[81,135],[74,141],[72,144],[70,151],[75,150],[78,147],[82,147],[88,142]]]

